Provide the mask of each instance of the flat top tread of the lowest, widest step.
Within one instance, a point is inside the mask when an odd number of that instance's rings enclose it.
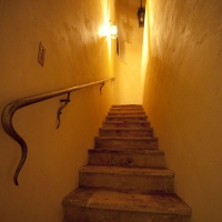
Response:
[[[103,189],[77,189],[63,205],[91,209],[191,215],[191,209],[175,194],[142,194]]]

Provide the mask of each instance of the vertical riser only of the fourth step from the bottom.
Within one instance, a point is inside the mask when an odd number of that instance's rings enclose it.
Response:
[[[157,150],[158,149],[158,141],[142,141],[142,140],[102,140],[95,139],[94,141],[95,149],[149,149],[149,150]]]

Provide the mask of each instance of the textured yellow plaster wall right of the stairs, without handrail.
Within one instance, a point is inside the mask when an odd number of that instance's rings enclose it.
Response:
[[[149,7],[144,108],[191,221],[221,222],[222,1]]]

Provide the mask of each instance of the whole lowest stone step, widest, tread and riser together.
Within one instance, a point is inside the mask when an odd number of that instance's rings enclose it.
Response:
[[[64,222],[188,222],[191,209],[175,194],[77,189],[62,201]]]

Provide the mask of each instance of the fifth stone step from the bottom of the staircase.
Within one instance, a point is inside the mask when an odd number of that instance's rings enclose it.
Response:
[[[152,128],[100,128],[100,137],[153,137]]]

